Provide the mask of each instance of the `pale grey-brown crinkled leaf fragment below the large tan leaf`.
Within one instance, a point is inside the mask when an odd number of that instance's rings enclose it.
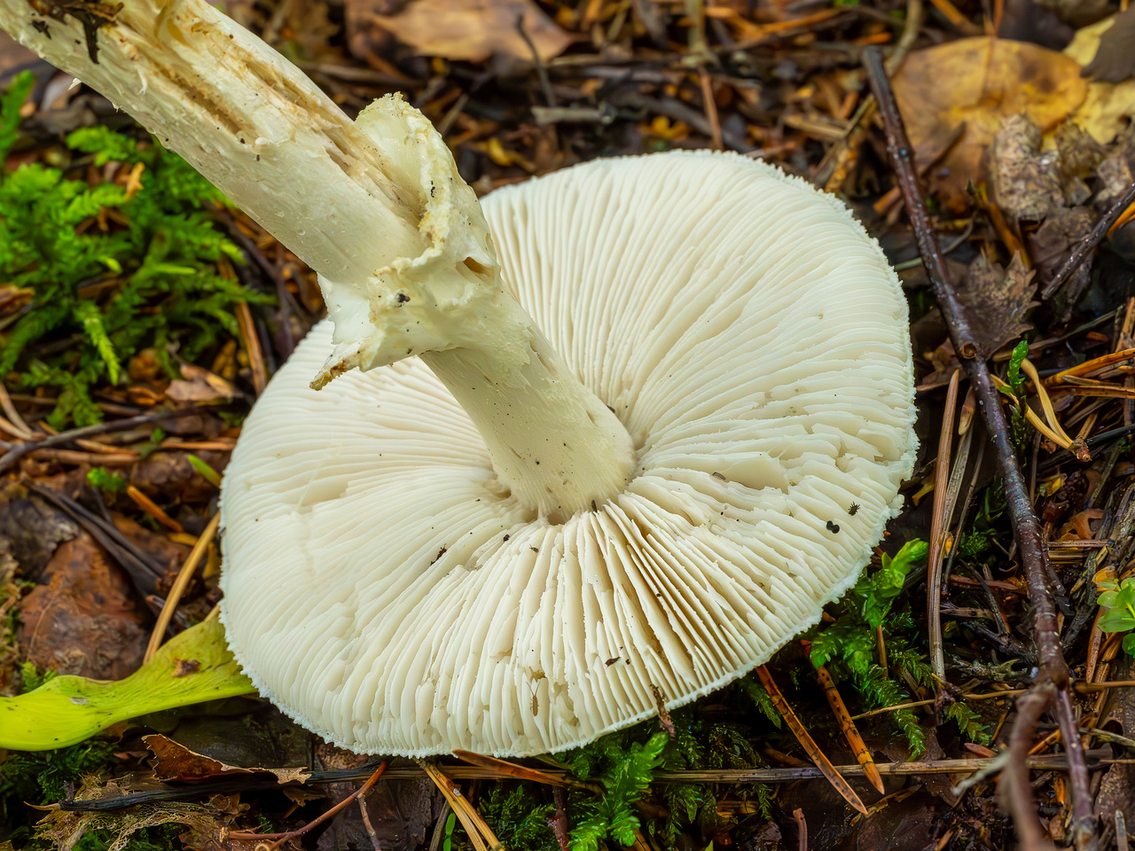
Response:
[[[1063,207],[1060,154],[1041,151],[1041,130],[1027,116],[1007,117],[990,148],[993,200],[1011,221],[1040,222]]]

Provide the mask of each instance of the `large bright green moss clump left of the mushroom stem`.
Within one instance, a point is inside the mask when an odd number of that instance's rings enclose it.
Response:
[[[31,83],[22,75],[0,98],[5,157]],[[119,384],[140,349],[152,346],[177,377],[170,347],[192,361],[219,335],[238,335],[236,302],[268,301],[220,273],[218,263],[244,262],[213,227],[225,199],[182,158],[106,127],[66,142],[70,167],[0,169],[0,275],[34,294],[0,327],[0,377],[17,370],[24,388],[52,388],[54,428],[98,422],[92,388]],[[103,180],[108,163],[129,176],[125,185]],[[75,344],[61,351],[37,345],[68,336]]]

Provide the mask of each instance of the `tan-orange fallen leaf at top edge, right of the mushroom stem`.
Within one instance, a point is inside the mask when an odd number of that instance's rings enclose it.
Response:
[[[412,0],[397,14],[385,14],[385,0],[348,3],[355,26],[378,26],[417,52],[445,59],[479,62],[494,53],[532,60],[532,50],[518,22],[531,39],[541,61],[560,56],[572,43],[531,0]]]

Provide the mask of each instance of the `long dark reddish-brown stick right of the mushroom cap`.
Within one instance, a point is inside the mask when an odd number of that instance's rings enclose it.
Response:
[[[981,352],[974,340],[969,318],[955,293],[949,269],[938,245],[938,236],[931,226],[930,214],[926,212],[922,187],[918,185],[911,158],[910,141],[907,138],[902,116],[899,113],[894,93],[891,91],[891,82],[883,67],[882,53],[877,48],[868,48],[864,51],[864,65],[867,68],[871,87],[883,119],[891,165],[902,189],[907,214],[910,217],[910,224],[934,289],[934,296],[950,328],[955,349],[961,354],[962,363],[969,373],[969,380],[977,395],[982,416],[985,419],[985,426],[997,453],[998,472],[1004,486],[1006,507],[1012,523],[1017,549],[1020,553],[1020,563],[1028,587],[1028,599],[1033,606],[1034,642],[1040,662],[1040,671],[1034,680],[1033,689],[1037,690],[1039,699],[1046,707],[1052,703],[1052,700],[1045,697],[1049,690],[1063,692],[1067,697],[1069,682],[1068,664],[1060,650],[1057,634],[1056,604],[1052,588],[1049,584],[1052,568],[1048,564],[1041,523],[1033,513],[1033,506],[1028,499],[1028,487],[1024,475],[1022,475],[1020,467],[1017,465],[1012,444],[1009,443],[1009,424],[1001,408],[1000,394],[993,386],[989,364],[985,362],[987,353]],[[1057,699],[1054,702],[1056,714],[1066,741],[1078,738],[1077,723],[1071,707],[1071,701],[1068,699]],[[1073,839],[1077,851],[1091,851],[1096,845],[1095,819],[1092,815],[1087,765],[1084,761],[1084,752],[1079,748],[1073,747],[1068,751],[1068,774],[1073,789]],[[1012,804],[1017,829],[1024,836],[1035,826],[1032,823],[1036,819],[1035,807],[1022,808],[1020,804],[1022,800],[1029,802],[1033,800],[1024,766],[1020,766],[1016,772],[1008,773],[1007,780],[1015,780],[1015,786],[1024,785],[1023,789],[1018,790],[1019,793],[1008,795],[1009,802]],[[1025,825],[1026,821],[1029,823],[1028,826]]]

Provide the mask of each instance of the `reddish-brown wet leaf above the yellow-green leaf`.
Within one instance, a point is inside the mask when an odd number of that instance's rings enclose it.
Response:
[[[129,581],[86,532],[59,546],[20,601],[19,647],[41,668],[119,680],[142,663],[149,631]],[[6,719],[7,722],[7,719]]]

